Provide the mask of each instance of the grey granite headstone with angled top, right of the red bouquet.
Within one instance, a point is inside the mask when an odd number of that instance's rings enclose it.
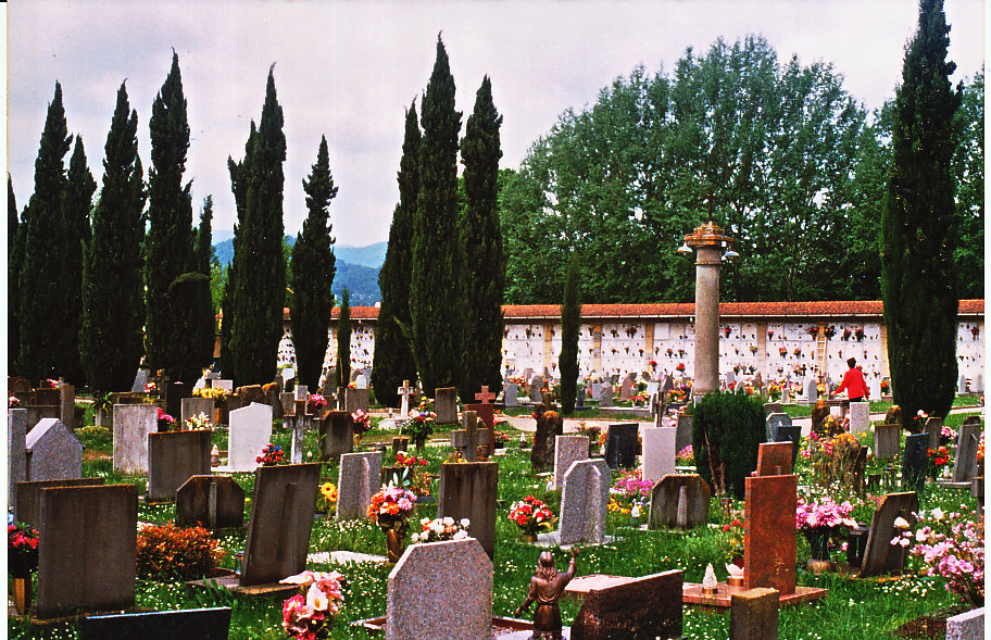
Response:
[[[612,474],[603,460],[572,463],[561,493],[560,544],[604,541],[611,482]]]

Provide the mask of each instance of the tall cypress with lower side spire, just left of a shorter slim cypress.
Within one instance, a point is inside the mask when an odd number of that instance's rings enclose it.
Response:
[[[262,385],[275,379],[278,343],[283,337],[286,301],[286,259],[283,254],[283,162],[286,136],[283,108],[268,70],[265,104],[247,175],[244,222],[235,242],[230,353],[237,384]],[[242,176],[238,176],[241,179]]]

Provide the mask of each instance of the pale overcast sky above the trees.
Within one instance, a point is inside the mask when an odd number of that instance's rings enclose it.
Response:
[[[349,246],[388,239],[404,109],[426,87],[438,32],[462,123],[488,74],[504,116],[502,166],[516,167],[565,109],[592,104],[600,88],[637,64],[670,71],[686,47],[704,52],[719,36],[732,42],[760,34],[779,60],[795,53],[805,64],[832,63],[854,98],[878,106],[900,80],[917,20],[916,0],[18,0],[7,7],[9,163],[18,206],[34,190],[55,80],[68,129],[83,136],[99,184],[116,90],[126,78],[147,172],[148,117],[175,48],[189,110],[186,178],[193,179],[196,216],[212,193],[214,228],[233,228],[226,160],[243,155],[275,63],[288,143],[286,233],[298,233],[305,217],[300,183],[326,135],[340,189],[330,219],[338,243]],[[973,76],[983,60],[983,2],[945,0],[945,9],[954,79]]]

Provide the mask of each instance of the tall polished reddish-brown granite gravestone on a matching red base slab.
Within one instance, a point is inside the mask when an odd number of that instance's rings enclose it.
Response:
[[[744,478],[743,588],[795,591],[798,476]]]

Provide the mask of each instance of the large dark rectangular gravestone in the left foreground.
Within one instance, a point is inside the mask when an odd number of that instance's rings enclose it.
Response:
[[[138,528],[135,485],[41,490],[35,617],[134,606]],[[71,566],[85,570],[66,570]]]

